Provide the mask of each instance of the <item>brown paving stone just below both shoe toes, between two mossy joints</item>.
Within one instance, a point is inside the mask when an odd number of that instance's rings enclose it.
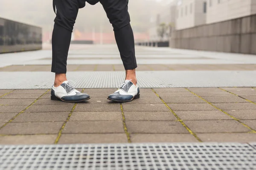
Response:
[[[115,105],[115,104],[102,104],[102,105],[98,105],[98,104],[84,104],[84,103],[79,103],[75,110],[76,112],[99,112],[99,111],[121,111],[121,107],[120,105]]]

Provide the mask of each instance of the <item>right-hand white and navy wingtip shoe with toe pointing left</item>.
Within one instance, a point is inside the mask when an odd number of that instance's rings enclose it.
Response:
[[[113,102],[131,102],[133,99],[140,98],[140,89],[138,85],[134,85],[131,80],[125,80],[119,89],[108,96]]]

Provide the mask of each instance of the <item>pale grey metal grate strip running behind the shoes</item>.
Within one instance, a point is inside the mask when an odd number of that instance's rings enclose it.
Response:
[[[254,87],[256,71],[137,71],[140,88]],[[76,88],[116,88],[124,81],[123,71],[68,72]],[[2,72],[0,89],[51,88],[50,72]]]

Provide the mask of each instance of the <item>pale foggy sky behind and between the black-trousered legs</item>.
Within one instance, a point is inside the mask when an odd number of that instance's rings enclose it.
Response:
[[[163,1],[170,0],[129,0],[129,13],[134,31],[144,32],[154,25]],[[163,12],[163,11],[161,11]],[[169,13],[169,11],[166,11]],[[0,0],[0,17],[43,27],[44,32],[52,30],[55,14],[52,0]],[[100,3],[95,6],[86,4],[79,9],[75,28],[80,31],[113,30]]]

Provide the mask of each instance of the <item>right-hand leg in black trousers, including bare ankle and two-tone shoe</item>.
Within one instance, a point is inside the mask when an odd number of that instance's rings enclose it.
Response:
[[[110,23],[113,26],[116,43],[125,67],[125,82],[108,99],[116,102],[130,102],[140,98],[140,90],[137,86],[136,72],[137,62],[135,58],[134,34],[130,25],[127,0],[101,0]]]

